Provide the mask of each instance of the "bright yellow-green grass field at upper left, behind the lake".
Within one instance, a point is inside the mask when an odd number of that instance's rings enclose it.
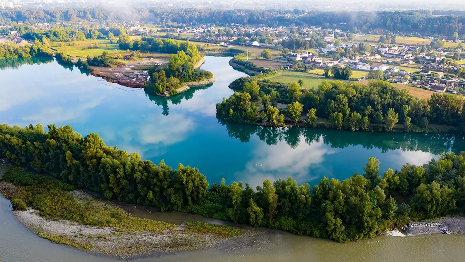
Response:
[[[116,41],[114,44],[110,43],[110,40],[106,39],[87,39],[86,41],[74,41],[74,42],[53,42],[51,43],[52,48],[62,51],[65,54],[77,57],[87,57],[87,55],[94,56],[102,54],[103,51],[107,51],[109,54],[120,53],[119,46]],[[91,47],[91,48],[89,48]]]

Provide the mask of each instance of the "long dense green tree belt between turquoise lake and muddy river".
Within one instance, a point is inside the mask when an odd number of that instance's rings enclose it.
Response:
[[[373,237],[413,219],[463,212],[465,158],[444,154],[424,166],[406,164],[381,177],[370,158],[364,175],[344,181],[324,178],[313,188],[292,178],[248,184],[213,184],[196,168],[163,161],[157,166],[107,147],[98,134],[82,137],[69,126],[0,125],[0,157],[26,165],[74,186],[101,192],[109,199],[154,205],[162,210],[278,228],[338,242]],[[398,208],[394,197],[410,199]]]

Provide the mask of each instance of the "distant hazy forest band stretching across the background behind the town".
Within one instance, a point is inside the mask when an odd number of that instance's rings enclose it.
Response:
[[[454,11],[455,12],[455,11]],[[436,12],[438,13],[438,12]],[[286,16],[286,14],[291,14]],[[296,16],[296,14],[300,14]],[[439,12],[439,14],[441,14]],[[263,24],[267,26],[289,26],[309,24],[321,27],[339,27],[343,30],[368,31],[382,28],[390,31],[401,31],[408,34],[440,34],[452,36],[454,32],[465,34],[463,16],[432,15],[429,10],[415,11],[380,11],[380,12],[305,12],[300,10],[212,10],[212,9],[163,9],[136,8],[133,12],[116,12],[114,9],[4,9],[0,11],[0,22],[25,22],[27,24],[43,22],[77,22],[79,19],[111,22],[145,20],[151,23],[169,26],[182,24]],[[455,14],[455,13],[453,13]]]

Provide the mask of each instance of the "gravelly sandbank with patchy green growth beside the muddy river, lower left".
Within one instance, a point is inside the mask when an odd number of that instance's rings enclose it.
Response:
[[[0,177],[5,174],[8,166],[8,161],[0,160]],[[25,189],[17,188],[7,181],[0,181],[0,192],[7,198],[16,195],[18,190]],[[108,212],[114,213],[112,210],[125,210],[125,207],[129,205],[124,206],[100,200],[80,190],[71,191],[69,194],[76,202],[82,202],[82,207],[91,208],[92,212],[96,214],[102,210],[110,210]],[[50,217],[42,217],[39,210],[32,208],[28,208],[26,211],[13,210],[12,212],[21,224],[42,238],[84,251],[120,258],[161,256],[174,252],[208,248],[225,251],[236,250],[258,242],[257,237],[263,234],[260,231],[197,222],[182,222],[180,224],[159,222],[164,229],[150,231],[146,230],[144,225],[155,220],[138,218],[130,213],[127,214],[132,217],[129,219],[131,223],[142,225],[142,230],[133,230],[130,225],[126,227],[124,224],[121,227],[97,227],[63,219],[51,219]],[[209,231],[207,230],[209,227],[217,228]],[[225,232],[233,233],[228,235]]]

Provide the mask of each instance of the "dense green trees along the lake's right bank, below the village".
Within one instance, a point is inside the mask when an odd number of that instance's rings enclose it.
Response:
[[[372,81],[368,85],[326,81],[316,90],[302,92],[298,83],[270,90],[260,88],[257,81],[244,80],[242,93],[236,92],[217,104],[219,119],[281,126],[276,125],[268,112],[279,114],[276,102],[281,102],[288,104],[284,114],[290,121],[299,122],[304,113],[309,126],[316,126],[316,117],[320,116],[329,119],[333,128],[352,131],[381,127],[391,131],[397,123],[403,124],[407,132],[423,131],[429,123],[456,128],[443,131],[465,130],[465,101],[453,94],[432,94],[429,99],[419,99],[385,81]],[[377,125],[369,126],[370,123]]]

